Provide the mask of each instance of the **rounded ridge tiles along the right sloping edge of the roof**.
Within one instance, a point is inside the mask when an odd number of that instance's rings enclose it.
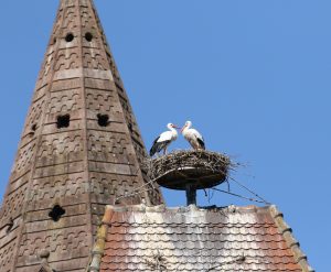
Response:
[[[293,253],[295,261],[299,264],[302,272],[314,272],[314,270],[308,263],[307,255],[300,249],[300,243],[293,237],[292,229],[284,220],[282,213],[277,208],[276,205],[270,205],[268,209],[276,226],[278,227],[278,230],[280,231],[281,236],[286,240],[286,243]]]

